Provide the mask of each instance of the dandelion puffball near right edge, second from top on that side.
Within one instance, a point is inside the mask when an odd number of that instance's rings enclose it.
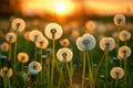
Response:
[[[122,42],[129,41],[131,38],[131,33],[129,31],[126,31],[126,30],[123,30],[123,31],[120,32],[119,38]]]

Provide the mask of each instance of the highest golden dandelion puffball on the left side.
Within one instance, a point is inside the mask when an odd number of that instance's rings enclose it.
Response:
[[[13,31],[22,32],[25,28],[25,22],[24,22],[24,20],[17,18],[17,19],[12,20],[11,28]]]

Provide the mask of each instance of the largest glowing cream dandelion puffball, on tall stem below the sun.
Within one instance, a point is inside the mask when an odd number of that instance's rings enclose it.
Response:
[[[44,34],[50,40],[58,40],[63,33],[62,26],[58,23],[49,23],[44,29]]]

